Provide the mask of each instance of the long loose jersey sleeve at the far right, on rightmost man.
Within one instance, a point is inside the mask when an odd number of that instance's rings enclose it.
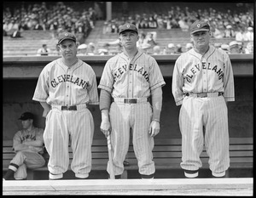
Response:
[[[224,54],[224,99],[235,101],[233,69],[228,54]]]

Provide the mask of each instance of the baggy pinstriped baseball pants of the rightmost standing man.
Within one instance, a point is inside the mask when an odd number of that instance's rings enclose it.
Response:
[[[182,133],[181,167],[184,170],[195,171],[202,166],[203,144],[212,173],[222,173],[230,167],[228,112],[223,96],[186,96],[180,109],[179,126]]]

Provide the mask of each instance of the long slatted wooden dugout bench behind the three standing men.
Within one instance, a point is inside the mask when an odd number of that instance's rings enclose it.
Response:
[[[71,148],[70,161],[73,153]],[[162,169],[180,169],[181,162],[181,139],[154,139],[154,163],[156,172]],[[9,166],[9,161],[15,156],[12,151],[12,141],[3,141],[3,171]],[[46,155],[46,161],[49,156]],[[129,178],[130,170],[138,170],[137,159],[133,147],[130,145],[126,156],[130,166],[125,167],[122,178]],[[202,168],[208,168],[208,156],[204,148],[201,154]],[[106,170],[108,163],[108,147],[106,139],[94,139],[92,144],[92,171]],[[253,138],[230,138],[230,168],[253,168]],[[28,169],[27,179],[33,179],[33,172],[47,171],[47,167]],[[69,168],[70,170],[70,168]]]

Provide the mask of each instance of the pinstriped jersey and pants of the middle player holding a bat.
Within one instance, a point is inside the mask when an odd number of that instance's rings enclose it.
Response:
[[[139,173],[154,173],[154,139],[148,134],[152,107],[147,99],[154,88],[165,84],[157,62],[147,54],[137,52],[130,60],[121,53],[108,59],[98,88],[108,91],[113,97],[109,114],[115,175],[124,171],[123,161],[129,148],[130,128]],[[125,104],[125,98],[137,99],[137,104]],[[108,168],[107,170],[110,173]]]

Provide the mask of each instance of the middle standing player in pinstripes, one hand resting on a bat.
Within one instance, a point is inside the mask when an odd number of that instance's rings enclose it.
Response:
[[[160,132],[161,88],[166,82],[155,59],[138,51],[138,38],[135,25],[120,27],[119,41],[123,52],[108,59],[98,86],[101,88],[101,130],[111,136],[116,178],[120,178],[124,171],[130,129],[139,173],[142,178],[154,178],[152,150],[154,136]],[[148,102],[150,96],[152,106]],[[108,173],[109,170],[108,163]]]

